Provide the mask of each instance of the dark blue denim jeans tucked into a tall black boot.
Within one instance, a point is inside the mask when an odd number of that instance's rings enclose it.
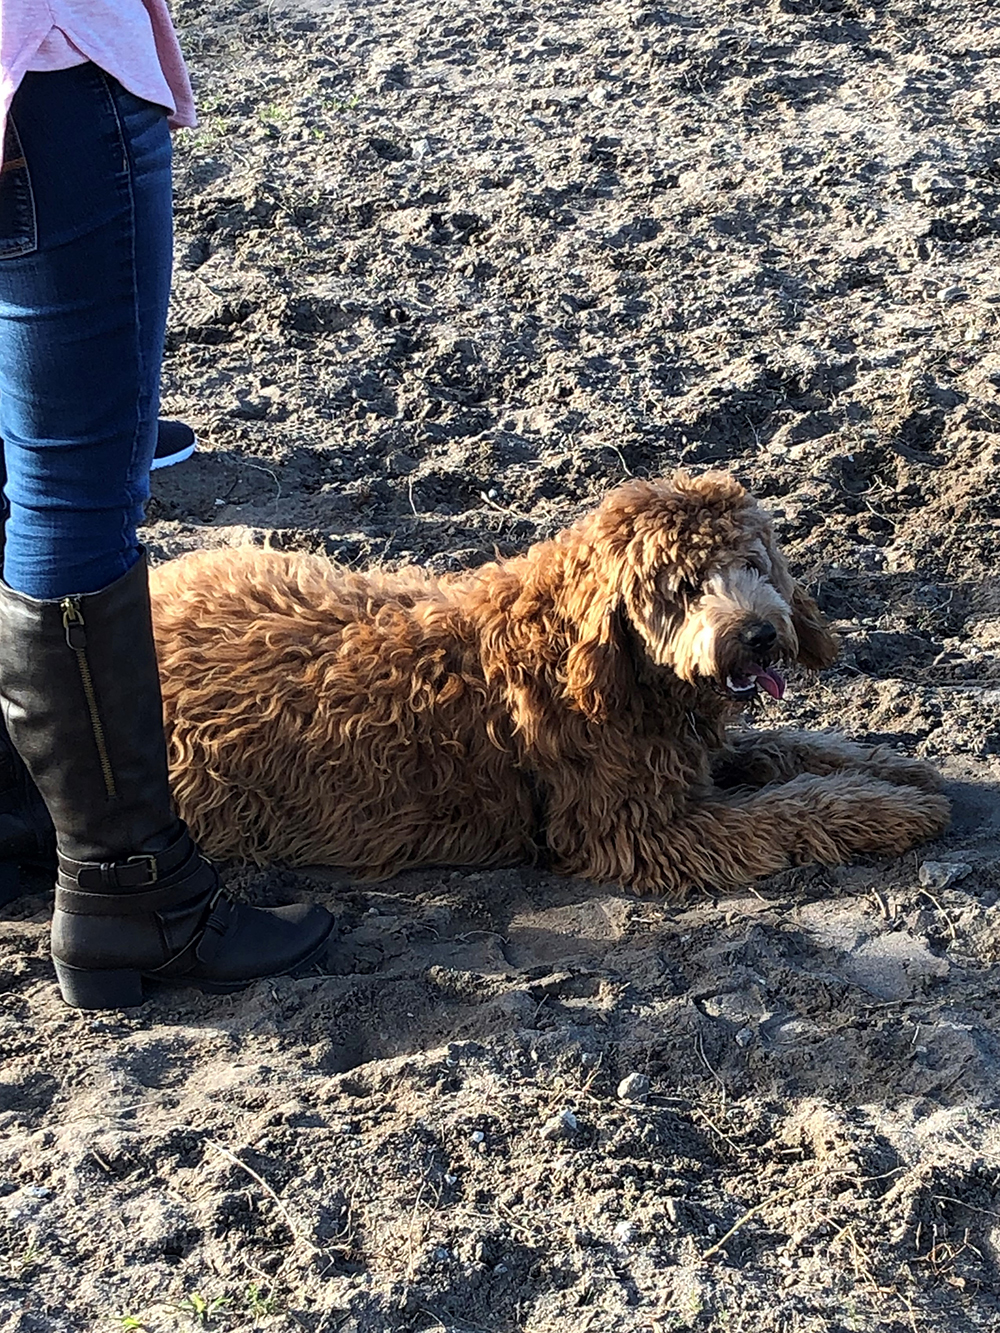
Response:
[[[139,559],[171,287],[167,112],[93,64],[29,73],[0,176],[4,580],[99,592]]]

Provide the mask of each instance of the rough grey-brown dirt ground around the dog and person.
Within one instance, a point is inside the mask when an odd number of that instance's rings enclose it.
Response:
[[[453,568],[733,468],[844,636],[763,720],[952,832],[681,908],[227,868],[323,974],[64,1008],[1,913],[16,1333],[1000,1329],[1000,28],[989,0],[177,0],[155,559]]]

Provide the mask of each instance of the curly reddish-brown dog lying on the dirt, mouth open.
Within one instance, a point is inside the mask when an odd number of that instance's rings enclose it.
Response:
[[[681,894],[900,853],[948,824],[931,768],[732,732],[836,643],[723,473],[631,481],[527,555],[439,577],[227,549],[153,573],[173,790],[207,852],[544,861]]]

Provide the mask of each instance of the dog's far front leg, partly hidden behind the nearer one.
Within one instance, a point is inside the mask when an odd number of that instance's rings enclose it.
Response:
[[[867,773],[895,786],[936,792],[940,774],[923,760],[907,758],[888,745],[857,745],[836,733],[731,732],[712,761],[719,786],[765,786],[801,773]]]

